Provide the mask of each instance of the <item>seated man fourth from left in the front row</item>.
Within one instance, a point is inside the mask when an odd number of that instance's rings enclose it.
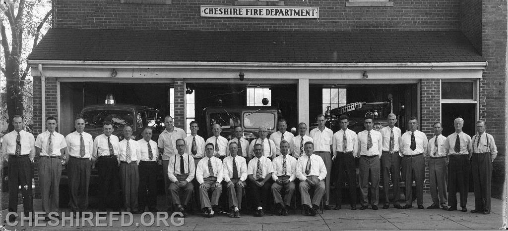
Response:
[[[262,144],[254,144],[252,149],[255,153],[255,157],[248,163],[247,177],[251,183],[251,196],[254,198],[256,206],[255,216],[261,217],[265,215],[263,207],[266,206],[266,201],[269,198],[273,164],[263,155]]]

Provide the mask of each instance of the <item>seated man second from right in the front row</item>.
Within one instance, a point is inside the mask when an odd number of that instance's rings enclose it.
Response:
[[[289,142],[286,140],[280,141],[280,156],[273,159],[273,174],[272,179],[275,181],[272,184],[272,194],[275,199],[276,206],[278,206],[278,215],[288,215],[286,206],[290,206],[291,198],[295,192],[295,178],[296,178],[296,164],[297,161],[294,157],[288,155]],[[280,190],[284,189],[285,196],[282,201]]]

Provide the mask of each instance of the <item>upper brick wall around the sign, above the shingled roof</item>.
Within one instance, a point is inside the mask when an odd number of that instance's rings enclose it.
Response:
[[[345,7],[346,0],[287,0],[289,7],[319,7],[316,19],[208,18],[201,5],[232,0],[173,1],[172,5],[118,0],[54,0],[54,27],[168,30],[459,30],[460,1],[393,1],[393,7]]]

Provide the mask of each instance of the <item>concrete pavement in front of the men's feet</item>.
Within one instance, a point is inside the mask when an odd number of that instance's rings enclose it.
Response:
[[[184,218],[183,225],[174,226],[168,219],[169,226],[161,224],[157,226],[143,225],[141,215],[134,215],[134,223],[130,226],[122,225],[120,221],[113,221],[112,226],[70,226],[70,221],[66,226],[60,223],[58,226],[29,226],[25,225],[8,226],[6,229],[26,229],[26,230],[337,230],[337,229],[499,229],[502,225],[501,209],[502,201],[492,199],[491,214],[483,215],[469,212],[474,209],[474,197],[469,193],[467,212],[444,211],[440,209],[390,209],[384,210],[350,210],[349,206],[342,206],[341,210],[325,210],[323,214],[315,217],[304,216],[299,210],[296,214],[290,211],[289,216],[281,217],[267,212],[264,217],[253,217],[250,214],[241,214],[240,218],[230,218],[227,214],[215,214],[213,218],[204,218],[200,214],[191,214]],[[430,194],[424,194],[424,206],[431,203]],[[416,205],[416,203],[413,203]],[[380,206],[382,207],[382,206]],[[41,210],[40,200],[35,201],[36,211]],[[460,207],[459,207],[460,209]],[[19,207],[19,211],[22,206]],[[7,210],[2,211],[2,220],[5,220]],[[60,212],[69,212],[63,210]],[[115,216],[120,218],[121,216]],[[149,222],[150,217],[145,216],[145,223]],[[17,221],[20,219],[18,217]],[[92,219],[97,224],[96,218]],[[86,222],[85,222],[86,223]],[[98,223],[109,223],[109,217],[106,221]],[[136,225],[138,223],[138,225]],[[39,224],[45,224],[40,222]]]

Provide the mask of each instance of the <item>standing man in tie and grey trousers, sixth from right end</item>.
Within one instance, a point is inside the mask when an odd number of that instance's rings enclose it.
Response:
[[[368,206],[368,189],[370,186],[370,201],[372,209],[377,210],[379,200],[379,172],[380,163],[379,157],[383,151],[383,137],[381,133],[373,130],[372,117],[365,117],[363,123],[365,130],[358,133],[358,150],[356,157],[360,158],[360,191],[362,193],[362,207],[361,210],[367,209]]]

